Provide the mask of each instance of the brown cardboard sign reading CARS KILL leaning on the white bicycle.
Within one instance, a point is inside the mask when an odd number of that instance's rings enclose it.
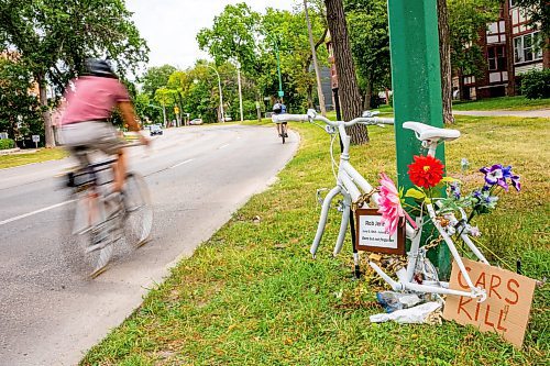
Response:
[[[487,291],[487,299],[477,302],[468,297],[448,296],[443,318],[465,325],[472,324],[482,332],[495,332],[517,347],[524,343],[529,321],[536,281],[513,271],[462,259],[475,287]],[[454,262],[449,287],[469,290]]]

